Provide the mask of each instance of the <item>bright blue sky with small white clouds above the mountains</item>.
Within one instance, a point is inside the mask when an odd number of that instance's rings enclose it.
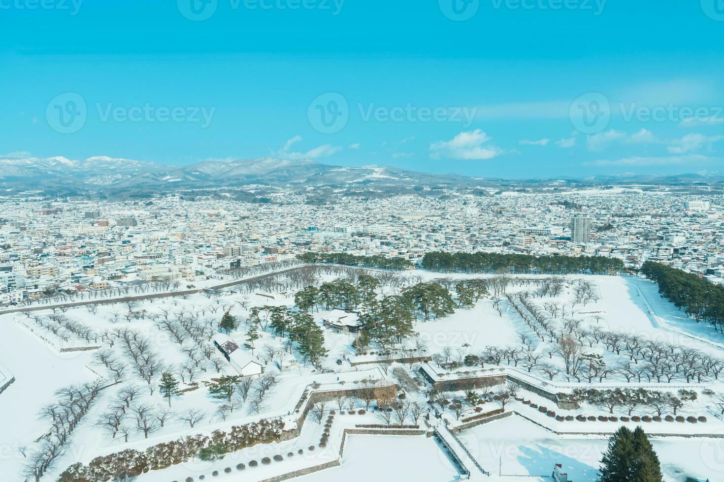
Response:
[[[717,171],[723,38],[724,0],[0,0],[0,154]]]

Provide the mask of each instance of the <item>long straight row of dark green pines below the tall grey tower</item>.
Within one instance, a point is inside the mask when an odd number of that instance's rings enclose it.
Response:
[[[514,272],[520,274],[544,273],[567,275],[591,273],[615,275],[624,270],[623,261],[618,258],[600,256],[533,256],[531,254],[447,253],[430,251],[422,259],[426,270],[440,272]]]

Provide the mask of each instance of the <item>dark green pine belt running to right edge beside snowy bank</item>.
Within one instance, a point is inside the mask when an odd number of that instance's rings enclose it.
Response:
[[[724,333],[724,288],[699,275],[647,261],[641,273],[659,285],[659,293],[696,322],[707,321]]]

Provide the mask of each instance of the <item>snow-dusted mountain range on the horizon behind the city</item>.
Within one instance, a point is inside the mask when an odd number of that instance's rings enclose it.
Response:
[[[510,187],[532,189],[603,186],[607,184],[687,185],[722,184],[722,173],[702,171],[684,174],[621,173],[586,178],[518,179],[480,178],[458,174],[432,174],[400,168],[368,165],[361,168],[317,163],[313,160],[278,158],[203,161],[168,165],[132,159],[94,156],[85,160],[64,157],[34,158],[0,156],[0,186],[13,191],[88,192],[208,189],[249,185],[344,187],[375,189],[413,186]]]

